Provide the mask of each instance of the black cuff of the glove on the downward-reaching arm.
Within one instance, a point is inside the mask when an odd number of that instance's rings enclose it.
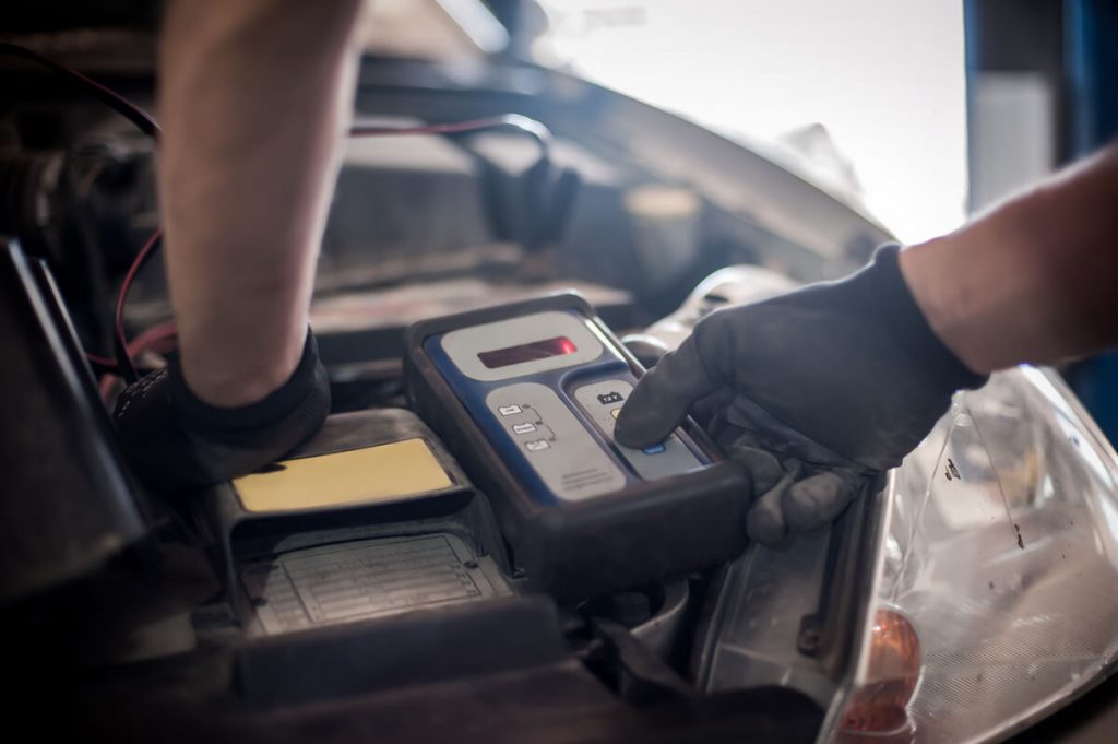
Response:
[[[199,398],[187,385],[178,355],[168,361],[171,405],[179,421],[189,431],[217,439],[265,428],[290,415],[318,384],[319,347],[311,329],[306,331],[303,356],[286,383],[256,403],[219,407]]]

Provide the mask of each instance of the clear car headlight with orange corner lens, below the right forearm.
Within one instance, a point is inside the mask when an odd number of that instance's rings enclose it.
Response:
[[[1005,738],[1118,658],[1118,458],[1051,371],[957,396],[891,473],[833,742]]]

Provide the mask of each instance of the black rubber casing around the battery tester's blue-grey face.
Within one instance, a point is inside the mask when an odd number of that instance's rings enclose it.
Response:
[[[720,459],[690,418],[682,428],[711,464],[586,501],[541,506],[501,460],[423,348],[438,333],[547,310],[580,313],[623,356],[634,376],[644,373],[590,304],[574,293],[420,321],[405,338],[405,378],[413,407],[490,496],[514,563],[528,573],[530,585],[559,600],[577,600],[680,576],[738,555],[747,543],[747,475]]]

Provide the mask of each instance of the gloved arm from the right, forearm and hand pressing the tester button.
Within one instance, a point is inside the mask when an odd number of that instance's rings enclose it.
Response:
[[[708,316],[641,379],[617,440],[646,446],[694,411],[752,477],[750,535],[780,544],[900,464],[956,390],[1118,341],[1116,236],[1111,147],[844,280]]]

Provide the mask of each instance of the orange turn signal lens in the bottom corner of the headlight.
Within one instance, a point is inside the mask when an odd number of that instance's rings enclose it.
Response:
[[[920,680],[920,639],[908,618],[879,609],[873,621],[865,682],[854,690],[840,728],[890,733],[908,724],[906,707]]]

